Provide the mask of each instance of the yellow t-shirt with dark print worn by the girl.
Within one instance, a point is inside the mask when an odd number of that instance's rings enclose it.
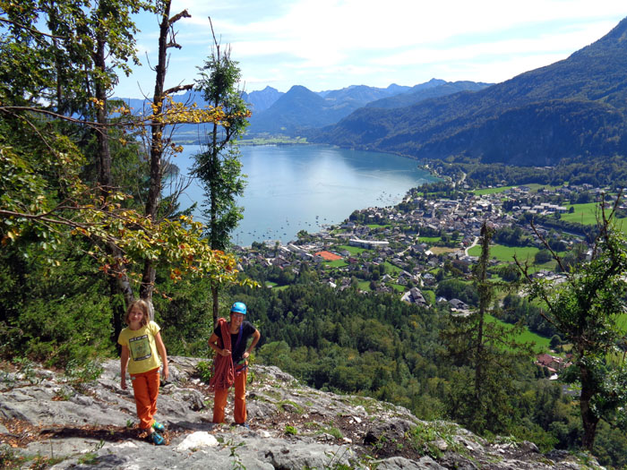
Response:
[[[141,329],[126,327],[120,331],[118,344],[127,346],[129,351],[128,373],[148,372],[161,367],[161,360],[157,353],[155,336],[159,333],[159,325],[149,321]]]

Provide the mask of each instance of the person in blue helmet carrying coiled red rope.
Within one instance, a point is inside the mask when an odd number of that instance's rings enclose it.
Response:
[[[214,374],[210,381],[210,389],[215,390],[213,423],[224,423],[228,389],[235,384],[235,422],[248,427],[246,424],[247,359],[262,335],[250,321],[244,320],[245,315],[245,303],[233,303],[230,321],[219,319],[218,326],[209,338],[209,346],[216,352]],[[250,346],[247,346],[250,338],[253,340]]]

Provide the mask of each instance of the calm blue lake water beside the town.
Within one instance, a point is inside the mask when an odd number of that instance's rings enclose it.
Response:
[[[296,240],[296,233],[318,232],[338,224],[355,209],[391,206],[408,189],[433,177],[417,161],[378,152],[343,150],[322,145],[243,146],[242,172],[247,175],[245,208],[232,236],[235,244]],[[185,175],[199,146],[185,147],[174,163]],[[202,189],[192,184],[181,206],[202,203]],[[196,215],[201,221],[200,211]]]

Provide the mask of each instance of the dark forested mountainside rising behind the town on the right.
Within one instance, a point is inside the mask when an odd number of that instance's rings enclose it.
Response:
[[[627,20],[561,62],[474,93],[387,111],[359,109],[311,139],[417,158],[463,156],[522,166],[624,154],[625,37]]]

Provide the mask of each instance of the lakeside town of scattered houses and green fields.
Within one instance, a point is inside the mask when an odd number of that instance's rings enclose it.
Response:
[[[507,241],[492,245],[489,278],[519,278],[516,256],[531,277],[559,283],[563,274],[553,255],[578,252],[586,257],[590,250],[585,231],[565,230],[560,220],[579,221],[571,225],[580,228],[591,226],[597,220],[599,203],[605,201],[610,208],[616,201],[615,194],[591,184],[470,190],[463,178],[447,180],[445,194],[431,192],[430,184],[425,184],[409,190],[395,206],[357,209],[342,223],[317,233],[303,230],[287,244],[265,240],[250,247],[236,246],[239,269],[244,273],[253,267],[262,270],[268,279],[265,285],[275,289],[294,282],[305,269],[316,272],[319,282],[339,290],[352,287],[363,295],[396,293],[408,303],[426,308],[443,303],[451,315],[468,315],[474,307],[439,295],[438,283],[445,273],[465,282],[472,279],[484,223],[515,238],[509,246]],[[625,208],[618,205],[616,209],[620,215]],[[544,353],[537,355],[537,364],[557,378],[557,372],[569,363]]]

